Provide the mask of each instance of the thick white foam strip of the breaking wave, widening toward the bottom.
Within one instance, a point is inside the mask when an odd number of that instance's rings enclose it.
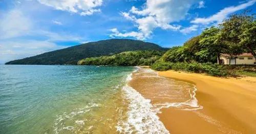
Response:
[[[132,80],[132,74],[127,76]],[[151,101],[145,99],[129,85],[123,86],[125,97],[129,100],[127,120],[120,120],[116,126],[120,133],[169,133],[153,110]]]

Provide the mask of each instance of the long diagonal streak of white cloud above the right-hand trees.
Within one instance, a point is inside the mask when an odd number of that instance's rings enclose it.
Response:
[[[224,8],[222,9],[221,11],[219,11],[218,13],[210,16],[210,17],[207,17],[207,18],[196,18],[194,20],[191,21],[191,23],[194,23],[194,24],[203,24],[203,25],[208,25],[208,24],[211,24],[211,23],[222,23],[222,21],[231,13],[234,13],[236,11],[239,11],[239,10],[242,10],[242,9],[245,9],[249,6],[252,6],[254,3],[256,2],[256,0],[252,0],[252,1],[249,1],[247,3],[244,3],[244,4],[240,4],[238,6],[231,6],[231,7],[227,7],[227,8]]]

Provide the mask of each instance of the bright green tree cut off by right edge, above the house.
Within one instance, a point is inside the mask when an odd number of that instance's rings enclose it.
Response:
[[[239,36],[240,44],[255,57],[256,62],[256,21],[243,25],[243,33]]]

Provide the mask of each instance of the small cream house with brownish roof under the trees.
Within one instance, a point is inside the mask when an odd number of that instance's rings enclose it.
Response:
[[[251,53],[243,53],[241,55],[221,54],[221,64],[256,64],[255,58]],[[219,61],[218,61],[219,63]]]

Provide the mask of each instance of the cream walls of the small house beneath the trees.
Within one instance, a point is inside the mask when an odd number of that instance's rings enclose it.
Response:
[[[239,58],[244,58],[244,59],[239,59]],[[229,58],[225,56],[221,56],[220,59],[223,59],[224,64],[229,64]],[[252,59],[248,59],[248,57],[245,56],[238,56],[237,58],[237,64],[254,64],[255,58],[252,57]]]

